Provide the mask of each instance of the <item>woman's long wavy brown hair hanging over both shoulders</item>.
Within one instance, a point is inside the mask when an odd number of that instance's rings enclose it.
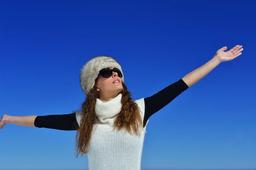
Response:
[[[128,133],[140,135],[140,127],[143,127],[143,122],[140,116],[138,105],[131,98],[131,93],[127,91],[126,85],[122,82],[122,108],[116,116],[114,128],[121,130],[124,128]],[[76,157],[87,153],[87,147],[92,136],[93,125],[96,122],[95,104],[99,97],[99,92],[96,91],[96,86],[90,90],[84,103],[82,104],[82,119],[80,127],[76,133]]]

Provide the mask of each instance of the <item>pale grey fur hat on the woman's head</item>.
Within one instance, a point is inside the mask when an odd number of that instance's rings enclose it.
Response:
[[[112,57],[108,56],[98,56],[90,59],[81,69],[80,73],[80,85],[84,93],[87,95],[90,89],[93,88],[95,79],[97,78],[99,71],[102,68],[118,68],[122,72],[121,65]],[[124,82],[124,74],[121,77],[122,82]]]

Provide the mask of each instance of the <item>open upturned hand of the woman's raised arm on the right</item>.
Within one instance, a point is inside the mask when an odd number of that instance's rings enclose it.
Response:
[[[242,45],[236,45],[229,51],[226,51],[226,50],[227,50],[226,46],[222,47],[216,52],[214,57],[217,57],[220,62],[231,61],[232,59],[235,59],[236,57],[240,56],[242,54],[241,51],[243,51],[244,48],[242,48]]]

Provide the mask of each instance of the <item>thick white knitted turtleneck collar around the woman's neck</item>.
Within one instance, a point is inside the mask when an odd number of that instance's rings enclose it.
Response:
[[[120,113],[122,108],[121,99],[121,93],[108,102],[96,99],[95,112],[100,122],[113,125],[113,117]]]

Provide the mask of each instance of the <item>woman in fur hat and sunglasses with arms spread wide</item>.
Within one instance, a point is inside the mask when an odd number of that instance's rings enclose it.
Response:
[[[146,125],[151,115],[169,104],[217,65],[241,55],[241,45],[219,49],[200,68],[153,96],[133,101],[124,84],[122,68],[111,57],[90,59],[81,69],[80,84],[87,95],[80,111],[47,116],[8,116],[6,123],[77,130],[77,156],[87,153],[90,170],[140,170]]]

